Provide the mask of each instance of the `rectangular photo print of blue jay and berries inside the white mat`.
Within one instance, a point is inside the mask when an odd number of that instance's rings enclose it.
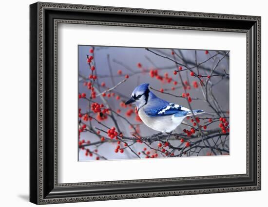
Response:
[[[230,51],[78,45],[78,161],[230,155]]]

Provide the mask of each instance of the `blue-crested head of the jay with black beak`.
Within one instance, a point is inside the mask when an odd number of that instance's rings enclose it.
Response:
[[[135,87],[134,91],[132,92],[131,99],[125,104],[127,105],[134,103],[138,109],[147,104],[150,92],[148,86],[149,84],[141,84]]]

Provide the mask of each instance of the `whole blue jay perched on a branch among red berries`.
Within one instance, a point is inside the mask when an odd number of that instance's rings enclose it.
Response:
[[[125,104],[134,103],[140,119],[155,131],[172,133],[187,116],[199,115],[203,110],[190,110],[179,104],[169,103],[155,96],[148,88],[149,84],[137,86],[131,99]]]

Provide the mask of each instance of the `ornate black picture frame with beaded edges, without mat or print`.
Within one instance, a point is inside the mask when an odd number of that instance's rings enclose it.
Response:
[[[57,23],[246,33],[247,173],[58,184]],[[30,5],[31,202],[49,204],[244,190],[261,190],[261,17],[46,2]]]

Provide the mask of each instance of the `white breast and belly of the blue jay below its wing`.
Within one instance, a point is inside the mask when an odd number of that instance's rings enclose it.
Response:
[[[144,112],[143,107],[139,110],[138,115],[145,125],[155,131],[171,132],[183,121],[185,117],[159,116],[149,117]]]

